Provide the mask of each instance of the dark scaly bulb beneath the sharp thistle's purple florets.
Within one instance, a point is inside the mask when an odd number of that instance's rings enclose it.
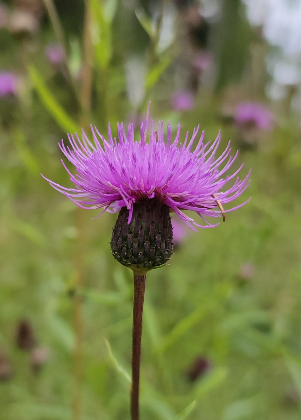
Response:
[[[133,205],[132,218],[122,207],[113,228],[111,250],[114,258],[132,269],[160,267],[172,254],[172,227],[169,207],[156,198],[143,198]]]

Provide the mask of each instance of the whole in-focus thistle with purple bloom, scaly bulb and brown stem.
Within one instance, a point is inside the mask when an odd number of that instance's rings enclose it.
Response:
[[[218,226],[219,223],[209,223],[207,217],[222,217],[225,221],[225,213],[246,203],[223,208],[244,192],[250,173],[239,179],[242,164],[232,175],[223,177],[237,152],[231,157],[229,142],[215,158],[220,133],[213,144],[204,144],[204,132],[197,137],[199,127],[189,141],[187,132],[183,143],[179,142],[180,125],[172,141],[168,124],[165,142],[163,122],[155,130],[148,114],[140,126],[139,142],[134,139],[133,124],[127,132],[122,124],[117,125],[118,141],[113,139],[110,125],[108,141],[96,128],[91,126],[91,131],[93,143],[83,131],[82,139],[77,134],[68,136],[70,146],[66,147],[63,141],[60,144],[76,168],[73,175],[62,161],[75,187],[66,188],[45,179],[79,207],[119,212],[112,231],[111,251],[117,261],[134,273],[131,418],[138,420],[145,279],[149,270],[165,265],[171,257],[174,244],[170,213],[176,213],[195,231],[197,227]],[[183,210],[194,211],[204,223],[197,223]]]

